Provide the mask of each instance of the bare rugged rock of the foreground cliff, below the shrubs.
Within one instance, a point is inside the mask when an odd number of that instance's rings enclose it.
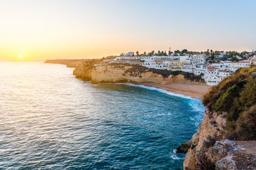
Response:
[[[255,141],[225,139],[227,113],[207,110],[200,129],[190,140],[184,169],[255,169]],[[256,149],[255,149],[256,150]]]

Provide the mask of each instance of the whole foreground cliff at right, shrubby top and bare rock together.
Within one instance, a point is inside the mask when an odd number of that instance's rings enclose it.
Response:
[[[200,129],[188,143],[184,169],[256,169],[256,67],[228,76],[205,94]]]

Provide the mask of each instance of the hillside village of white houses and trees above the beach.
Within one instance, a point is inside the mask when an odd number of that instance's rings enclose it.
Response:
[[[128,52],[104,61],[194,73],[201,75],[207,85],[212,86],[241,67],[256,65],[256,52],[188,52],[186,49],[174,53],[169,51],[168,54],[160,51],[143,54]]]

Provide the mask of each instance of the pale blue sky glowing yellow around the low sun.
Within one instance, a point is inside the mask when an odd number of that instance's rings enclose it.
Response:
[[[99,58],[169,47],[252,51],[255,7],[254,0],[1,0],[0,60]]]

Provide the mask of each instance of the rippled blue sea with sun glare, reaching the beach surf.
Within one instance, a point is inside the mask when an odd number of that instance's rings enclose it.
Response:
[[[0,169],[182,169],[198,99],[74,78],[72,68],[0,62]]]

